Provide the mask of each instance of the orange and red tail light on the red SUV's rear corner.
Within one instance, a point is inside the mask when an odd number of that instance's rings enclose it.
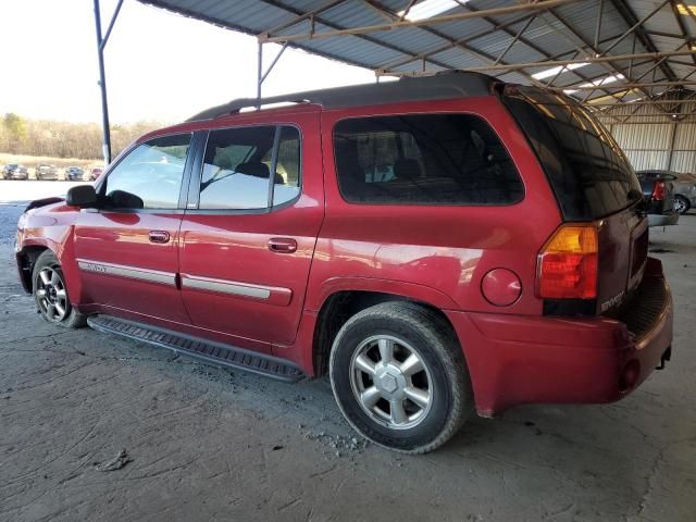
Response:
[[[597,228],[563,225],[542,249],[537,261],[537,295],[543,299],[597,297]]]

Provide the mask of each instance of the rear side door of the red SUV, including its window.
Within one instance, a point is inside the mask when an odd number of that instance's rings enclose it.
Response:
[[[240,347],[290,345],[323,220],[319,112],[210,130],[182,223],[194,325]]]

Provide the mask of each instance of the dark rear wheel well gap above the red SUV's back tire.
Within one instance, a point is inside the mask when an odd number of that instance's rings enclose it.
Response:
[[[395,294],[383,294],[378,291],[338,291],[328,297],[322,304],[316,318],[314,327],[314,339],[312,349],[312,363],[314,365],[314,375],[320,377],[328,373],[328,357],[334,339],[341,326],[352,318],[356,313],[387,301],[403,301],[419,304],[423,308],[432,310],[439,315],[447,326],[451,328],[452,335],[456,337],[447,315],[436,307],[426,302],[409,299],[408,297]]]

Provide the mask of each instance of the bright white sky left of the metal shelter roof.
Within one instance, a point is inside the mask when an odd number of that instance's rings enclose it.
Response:
[[[102,27],[115,0],[101,0]],[[101,122],[92,0],[0,0],[0,114]],[[264,45],[264,63],[279,46]],[[257,40],[125,0],[105,53],[113,123],[175,123],[256,96]],[[374,82],[371,71],[286,50],[263,96]]]

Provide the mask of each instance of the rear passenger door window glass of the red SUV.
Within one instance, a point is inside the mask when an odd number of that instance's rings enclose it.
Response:
[[[271,175],[276,129],[278,150]],[[201,173],[199,209],[266,209],[270,201],[277,206],[293,200],[299,191],[300,137],[295,127],[211,130]]]

